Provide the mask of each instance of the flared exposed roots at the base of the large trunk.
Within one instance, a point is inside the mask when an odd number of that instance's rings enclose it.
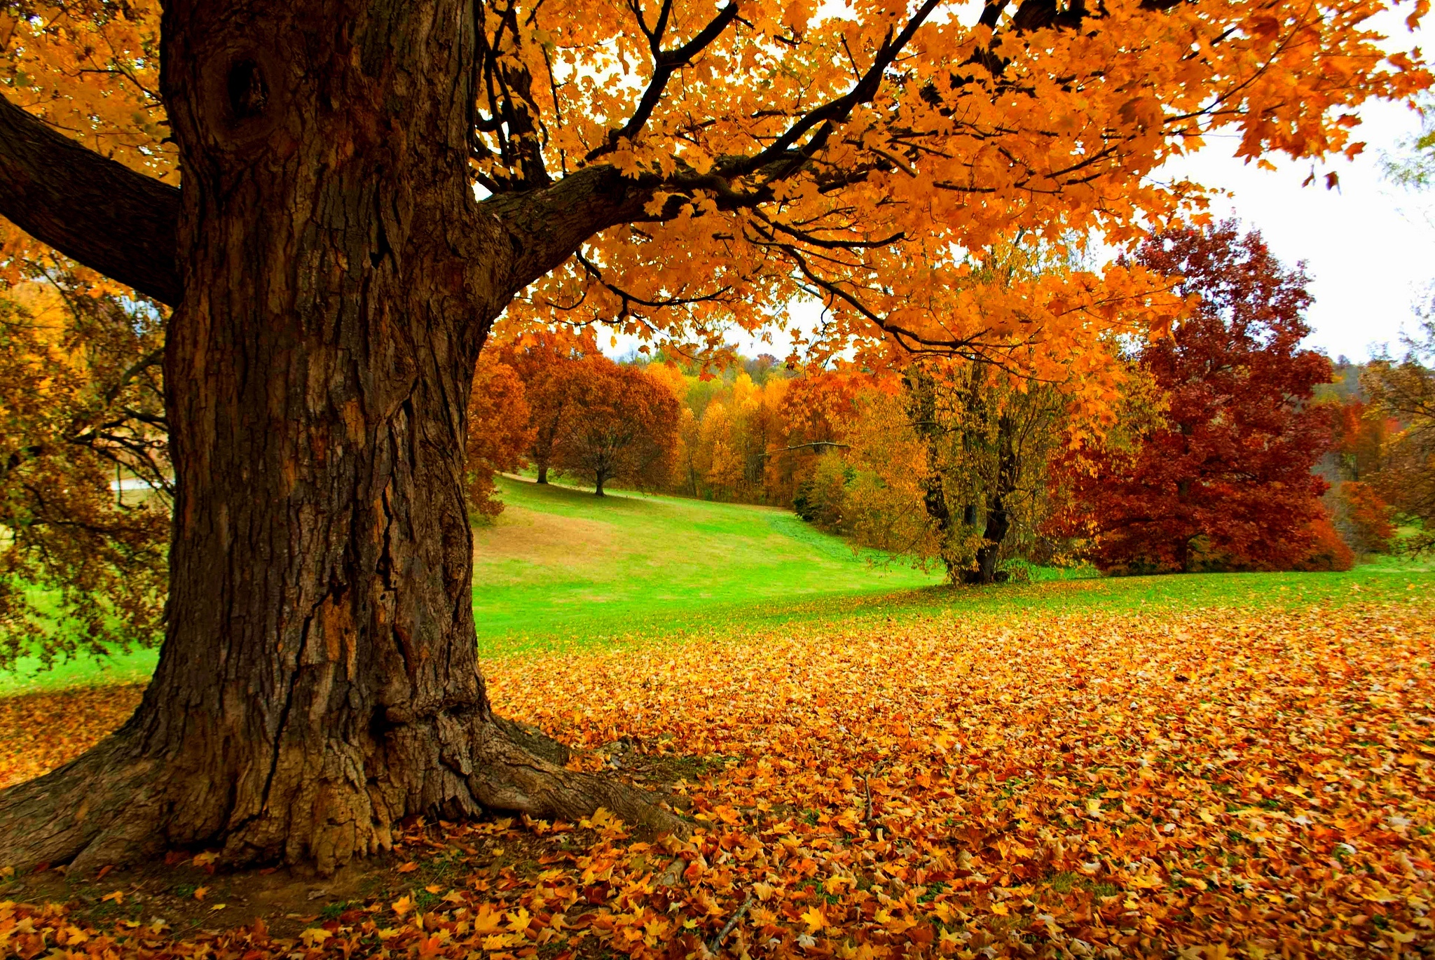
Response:
[[[564,769],[561,743],[476,710],[396,728],[369,750],[342,740],[319,755],[267,746],[271,772],[258,802],[220,788],[243,786],[240,766],[204,772],[182,755],[146,758],[139,739],[126,725],[72,763],[0,792],[0,865],[89,871],[202,845],[221,847],[234,865],[311,862],[330,874],[387,850],[389,828],[405,815],[485,809],[571,821],[607,808],[651,832],[687,834],[653,794]],[[194,809],[199,796],[225,796],[230,808]]]

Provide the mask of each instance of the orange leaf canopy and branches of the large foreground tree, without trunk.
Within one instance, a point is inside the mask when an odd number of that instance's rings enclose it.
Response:
[[[509,319],[710,347],[729,323],[762,329],[815,297],[818,353],[855,337],[1092,373],[1104,360],[1081,344],[1167,323],[1168,284],[1128,264],[992,290],[971,257],[1017,231],[1124,243],[1198,211],[1197,184],[1151,174],[1213,136],[1254,162],[1355,155],[1362,102],[1429,83],[1418,52],[1370,29],[1382,7],[479,4],[471,172],[532,253],[512,270],[514,291],[532,286]],[[55,156],[63,131],[177,184],[158,4],[10,1],[0,29],[4,106],[29,115],[4,109],[0,164],[26,188],[3,212],[172,303],[178,191],[66,156],[105,202],[62,197],[24,155]],[[96,211],[82,205],[106,207],[139,248],[90,250],[112,241],[85,230]],[[13,265],[27,241],[10,231],[4,250]]]

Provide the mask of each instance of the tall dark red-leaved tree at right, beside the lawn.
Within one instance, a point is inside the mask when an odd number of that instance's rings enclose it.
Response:
[[[1330,418],[1310,403],[1330,360],[1300,342],[1310,304],[1300,267],[1284,268],[1236,221],[1149,238],[1141,264],[1184,277],[1201,304],[1138,360],[1168,393],[1165,422],[1135,451],[1105,451],[1071,471],[1073,517],[1095,534],[1096,564],[1128,573],[1273,570],[1309,561],[1326,482]]]

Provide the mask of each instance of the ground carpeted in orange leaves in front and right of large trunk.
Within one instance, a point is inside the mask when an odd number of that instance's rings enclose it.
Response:
[[[152,904],[99,921],[99,897],[10,893],[0,953],[1418,951],[1435,944],[1432,614],[1411,591],[868,617],[495,662],[501,710],[585,748],[580,765],[669,782],[695,838],[643,842],[606,817],[415,822],[387,887],[283,933],[243,916],[178,931]]]

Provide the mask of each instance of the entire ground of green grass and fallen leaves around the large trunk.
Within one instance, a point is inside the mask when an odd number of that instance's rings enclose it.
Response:
[[[606,812],[420,818],[323,884],[217,871],[204,850],[0,874],[0,949],[1214,960],[1435,943],[1425,564],[949,588],[776,511],[504,492],[475,534],[495,709],[657,791],[690,838]],[[141,692],[0,699],[0,783],[85,750]]]

